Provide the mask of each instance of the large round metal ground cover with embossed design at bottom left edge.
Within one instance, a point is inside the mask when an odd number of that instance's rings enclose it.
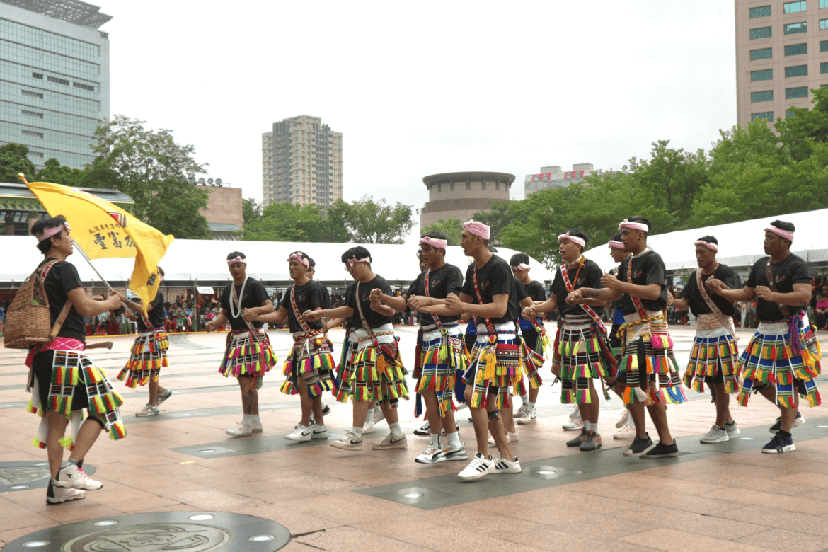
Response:
[[[3,551],[275,552],[288,540],[291,533],[284,526],[261,517],[220,511],[166,511],[50,527],[12,540]]]

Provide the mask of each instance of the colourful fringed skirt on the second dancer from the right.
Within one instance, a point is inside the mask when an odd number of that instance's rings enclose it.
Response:
[[[699,314],[684,384],[703,393],[705,382],[724,383],[725,392],[736,393],[741,388],[736,369],[738,360],[733,329],[723,326],[713,313]]]

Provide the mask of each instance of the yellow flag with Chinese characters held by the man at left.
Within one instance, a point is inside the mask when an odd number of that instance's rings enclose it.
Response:
[[[90,259],[135,257],[129,289],[141,298],[146,312],[161,285],[158,262],[176,238],[165,236],[118,205],[89,192],[49,182],[26,185],[46,212],[66,218],[72,239]]]

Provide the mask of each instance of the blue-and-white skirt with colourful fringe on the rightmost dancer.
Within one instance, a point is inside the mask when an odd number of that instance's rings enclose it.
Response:
[[[759,322],[737,363],[744,376],[739,404],[748,406],[755,387],[776,384],[778,406],[795,407],[794,392],[809,405],[820,405],[814,380],[820,375],[821,358],[820,343],[804,312],[782,322]]]

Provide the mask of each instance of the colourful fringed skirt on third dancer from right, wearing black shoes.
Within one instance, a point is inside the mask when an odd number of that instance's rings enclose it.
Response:
[[[625,315],[619,330],[623,343],[619,382],[626,386],[623,401],[628,405],[685,402],[667,319],[661,310],[646,314],[645,319],[634,313]]]

